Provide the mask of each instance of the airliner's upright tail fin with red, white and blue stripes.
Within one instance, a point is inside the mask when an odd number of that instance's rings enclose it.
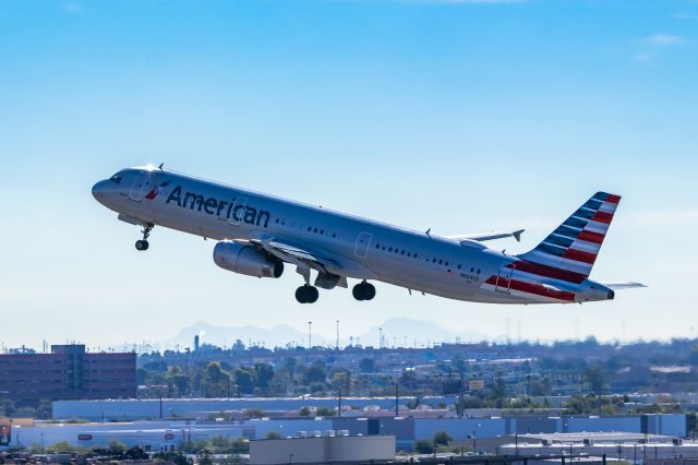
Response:
[[[619,195],[597,192],[535,249],[519,258],[588,277],[618,202]]]

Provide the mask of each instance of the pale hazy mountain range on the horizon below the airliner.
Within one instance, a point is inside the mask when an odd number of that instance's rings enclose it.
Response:
[[[378,330],[382,329],[382,330]],[[361,344],[363,346],[378,347],[380,333],[383,334],[383,346],[392,347],[407,346],[418,347],[426,346],[434,343],[455,343],[460,341],[480,342],[488,339],[486,336],[476,332],[456,333],[446,330],[432,321],[411,320],[408,318],[392,318],[386,320],[382,325],[372,326],[361,336],[356,338],[344,338],[341,345]],[[270,330],[257,326],[216,326],[205,322],[197,322],[191,326],[182,329],[177,335],[169,341],[160,343],[164,347],[173,348],[179,345],[180,348],[193,347],[194,336],[200,336],[200,344],[213,344],[216,346],[230,347],[236,339],[242,341],[246,346],[253,344],[264,347],[285,347],[288,344],[308,345],[308,333],[294,330],[288,325],[281,324]],[[325,338],[320,334],[313,334],[313,345],[328,346],[334,345],[335,341]]]

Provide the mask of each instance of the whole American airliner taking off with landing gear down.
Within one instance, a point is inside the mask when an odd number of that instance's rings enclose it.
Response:
[[[376,295],[370,282],[449,299],[486,303],[571,303],[612,300],[639,283],[589,278],[621,196],[597,192],[531,251],[512,255],[483,242],[524,229],[438,236],[303,204],[159,167],[127,168],[97,182],[95,199],[118,218],[142,227],[136,250],[155,226],[215,239],[214,262],[234,273],[278,278],[296,266],[300,303],[318,288]],[[311,284],[311,272],[315,279]]]

